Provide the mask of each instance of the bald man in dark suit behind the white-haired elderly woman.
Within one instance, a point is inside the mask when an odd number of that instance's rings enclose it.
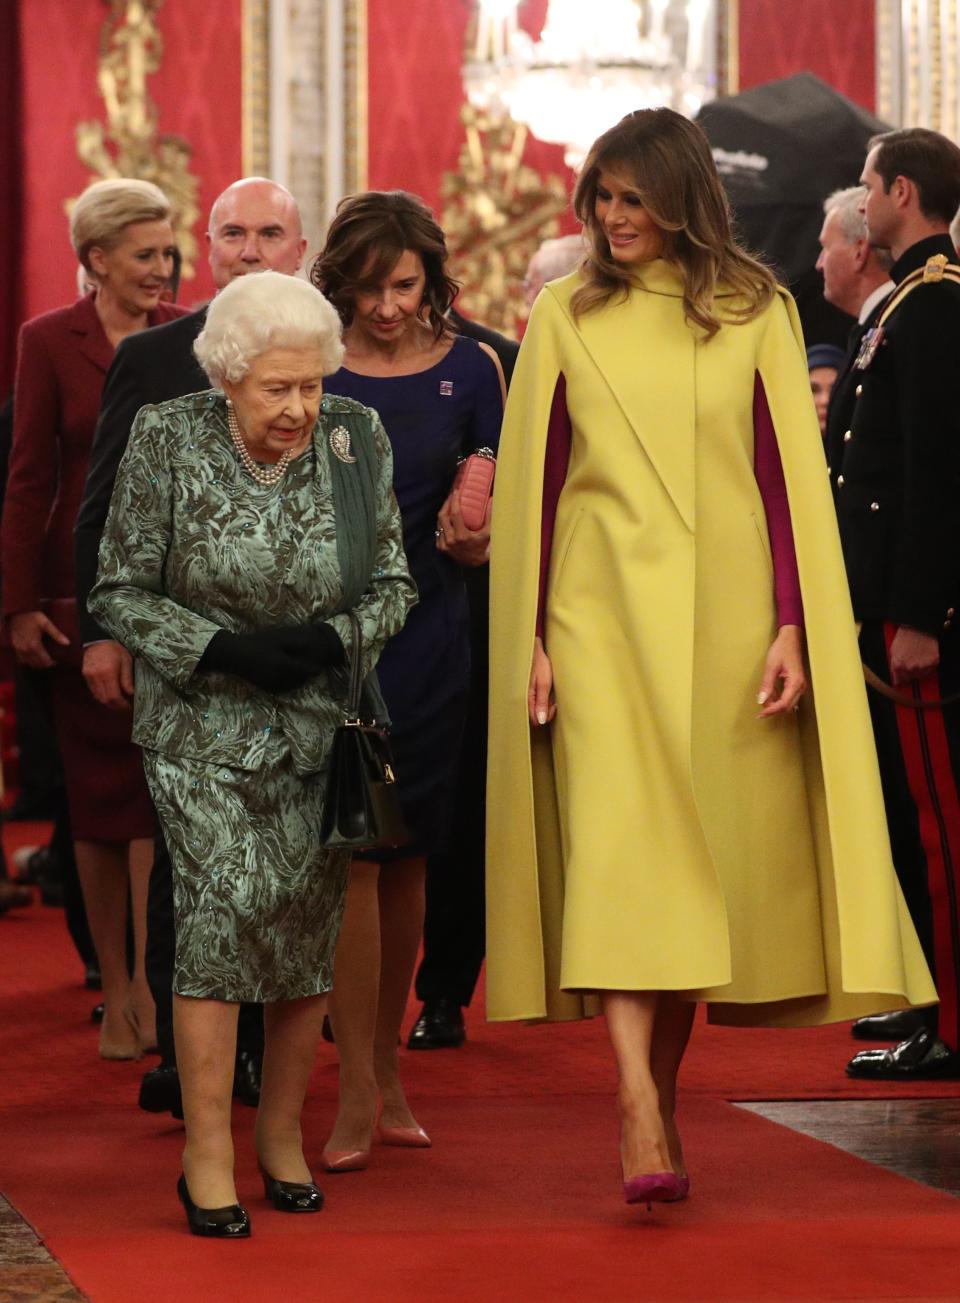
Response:
[[[228,186],[210,210],[207,229],[214,284],[223,289],[234,276],[257,271],[293,275],[304,261],[306,240],[300,211],[284,186],[247,177]],[[148,403],[182,397],[210,388],[193,353],[206,309],[156,330],[130,335],[117,348],[103,390],[83,502],[76,526],[77,607],[85,644],[83,678],[98,701],[129,710],[133,661],[87,611],[96,577],[96,556],[120,460],[137,412]],[[147,980],[156,1002],[160,1063],[141,1084],[139,1104],[150,1113],[180,1113],[180,1083],[173,1048],[173,883],[169,856],[159,827],[147,902]],[[241,1007],[237,1032],[237,1093],[249,1104],[259,1097],[263,1027],[259,1006]]]

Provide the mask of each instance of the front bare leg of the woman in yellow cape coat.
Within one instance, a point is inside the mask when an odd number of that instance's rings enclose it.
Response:
[[[650,1058],[659,993],[604,990],[600,1003],[620,1075],[620,1161],[624,1179],[671,1170],[670,1147]]]

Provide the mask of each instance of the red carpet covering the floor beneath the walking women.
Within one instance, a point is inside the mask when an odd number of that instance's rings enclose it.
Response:
[[[186,1234],[176,1203],[181,1130],[135,1108],[145,1065],[96,1058],[63,916],[7,915],[0,947],[0,1190],[94,1303],[960,1299],[956,1200],[724,1102],[878,1093],[843,1078],[844,1029],[698,1028],[683,1105],[694,1194],[647,1214],[619,1199],[599,1023],[487,1027],[474,1012],[462,1050],[406,1057],[434,1149],[378,1149],[367,1173],[327,1177],[319,1217],[263,1203],[238,1108],[254,1237],[216,1244]],[[314,1153],[335,1081],[324,1048]]]

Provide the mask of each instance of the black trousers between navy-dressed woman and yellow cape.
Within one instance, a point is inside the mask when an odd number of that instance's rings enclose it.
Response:
[[[470,704],[460,753],[449,850],[427,860],[423,959],[417,998],[469,1005],[486,952],[483,864],[487,784],[487,567],[468,571]]]

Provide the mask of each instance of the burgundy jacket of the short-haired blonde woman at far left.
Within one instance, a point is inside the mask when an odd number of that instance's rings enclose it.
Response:
[[[182,308],[159,304],[150,322],[182,314]],[[73,525],[112,361],[92,294],[35,317],[20,332],[0,529],[5,615],[35,611],[42,598],[73,597]]]

